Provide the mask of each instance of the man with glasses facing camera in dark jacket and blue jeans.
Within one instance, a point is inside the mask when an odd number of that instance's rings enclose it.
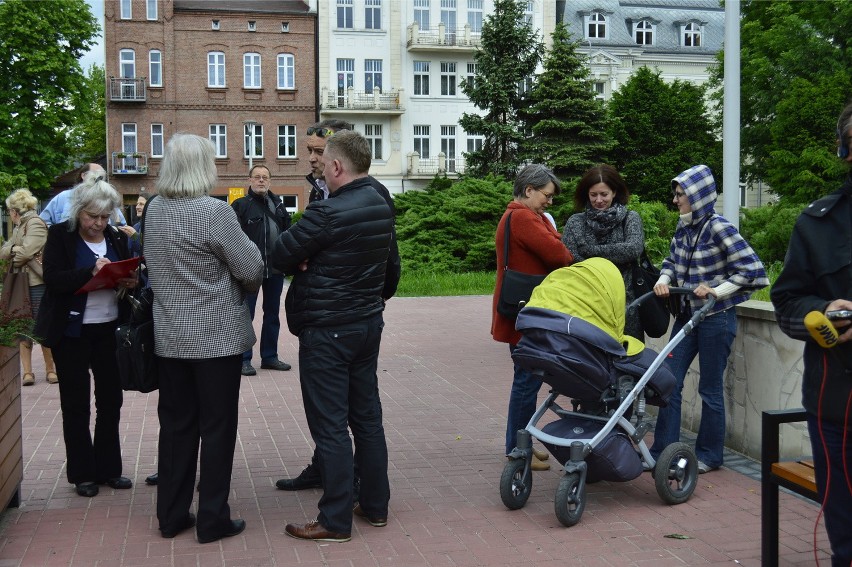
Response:
[[[290,213],[281,197],[269,190],[271,175],[265,165],[255,165],[249,172],[248,195],[231,205],[240,219],[240,226],[249,239],[257,245],[263,256],[263,324],[260,330],[260,367],[269,370],[290,370],[290,365],[278,358],[278,334],[281,330],[279,311],[284,274],[272,268],[268,255],[278,235],[290,228]],[[246,294],[249,313],[254,320],[257,294]],[[243,376],[254,376],[257,370],[251,365],[251,349],[243,353]]]

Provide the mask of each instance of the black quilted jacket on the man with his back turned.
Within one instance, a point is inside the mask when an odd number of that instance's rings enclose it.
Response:
[[[391,210],[367,177],[310,203],[269,256],[272,267],[293,274],[284,302],[290,332],[381,313],[383,290],[398,283],[388,281],[395,277],[387,270],[392,232]]]

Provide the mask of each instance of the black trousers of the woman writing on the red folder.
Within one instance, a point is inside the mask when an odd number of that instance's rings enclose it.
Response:
[[[121,476],[118,423],[124,394],[115,358],[116,321],[83,325],[79,337],[63,337],[53,347],[62,408],[68,482],[99,482]],[[91,375],[89,370],[91,369]],[[92,414],[95,382],[95,434]]]

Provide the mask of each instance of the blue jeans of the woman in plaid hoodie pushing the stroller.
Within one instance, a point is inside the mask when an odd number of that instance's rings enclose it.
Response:
[[[674,337],[687,321],[687,318],[675,321],[671,336]],[[669,404],[657,413],[654,444],[651,446],[654,458],[659,457],[667,445],[680,440],[683,382],[689,365],[698,355],[701,423],[695,453],[698,460],[710,468],[721,466],[725,448],[725,367],[736,335],[737,313],[732,307],[704,319],[672,351],[667,364],[677,385]]]

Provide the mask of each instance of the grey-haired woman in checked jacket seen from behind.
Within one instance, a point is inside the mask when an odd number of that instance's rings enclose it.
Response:
[[[245,303],[263,259],[234,210],[210,197],[210,140],[176,134],[166,147],[158,198],[145,213],[145,259],[154,290],[160,417],[157,519],[163,537],[196,525],[190,512],[201,444],[196,535],[235,536],[228,506],[237,439],[242,354],[255,343]]]

